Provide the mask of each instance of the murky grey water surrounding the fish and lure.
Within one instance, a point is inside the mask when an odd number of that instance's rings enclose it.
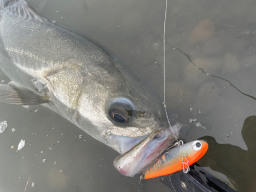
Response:
[[[28,2],[100,42],[163,98],[165,2]],[[253,0],[194,0],[169,1],[167,9],[167,108],[191,126],[186,141],[209,142],[199,163],[238,191],[256,191],[255,8]],[[9,82],[1,71],[0,80]],[[117,152],[44,106],[0,104],[2,121],[1,191],[22,191],[29,178],[26,191],[169,191],[157,179],[141,186],[138,176],[120,175],[112,165]],[[25,146],[16,152],[21,139]]]

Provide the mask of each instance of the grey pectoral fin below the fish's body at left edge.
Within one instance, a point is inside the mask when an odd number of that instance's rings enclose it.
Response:
[[[0,85],[0,103],[15,105],[35,105],[50,102],[47,96],[40,96],[27,88],[17,86],[16,84]]]

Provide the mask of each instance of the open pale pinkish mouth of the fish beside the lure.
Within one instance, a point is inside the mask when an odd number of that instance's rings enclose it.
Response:
[[[118,156],[113,164],[114,167],[127,177],[133,177],[140,173],[140,170],[155,163],[166,150],[179,137],[180,123],[172,126],[172,129],[165,128],[154,131],[131,150]]]

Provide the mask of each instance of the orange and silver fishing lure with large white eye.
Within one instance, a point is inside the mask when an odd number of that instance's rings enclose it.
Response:
[[[179,170],[188,170],[189,165],[197,162],[208,149],[203,140],[191,141],[170,148],[150,169],[144,172],[145,179],[169,175]]]

